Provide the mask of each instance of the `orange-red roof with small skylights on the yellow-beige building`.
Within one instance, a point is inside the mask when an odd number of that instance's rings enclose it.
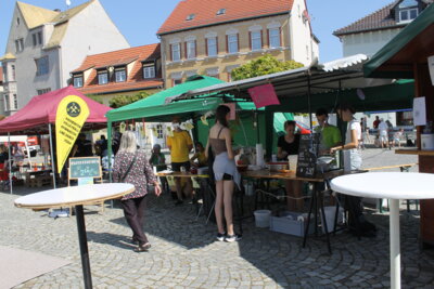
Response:
[[[288,13],[293,3],[294,0],[181,0],[159,27],[157,35]],[[226,12],[217,15],[220,9],[226,9]],[[188,21],[187,17],[192,14],[194,14],[193,19]]]

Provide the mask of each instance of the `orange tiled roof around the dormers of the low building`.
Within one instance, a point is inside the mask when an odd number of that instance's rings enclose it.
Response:
[[[85,94],[114,93],[122,91],[156,88],[163,86],[161,71],[155,71],[155,79],[143,79],[141,68],[142,62],[151,62],[154,60],[158,60],[159,57],[159,43],[135,47],[89,55],[82,62],[80,67],[73,70],[72,73],[79,74],[92,68],[90,76],[86,79],[86,82],[84,83],[84,87],[77,88],[77,90]],[[127,74],[127,80],[125,82],[108,82],[106,84],[98,84],[98,68],[127,65],[132,62],[136,63],[133,64],[131,71]]]

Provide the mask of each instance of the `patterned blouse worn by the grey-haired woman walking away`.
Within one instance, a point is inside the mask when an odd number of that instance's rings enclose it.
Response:
[[[144,150],[138,149],[136,152],[136,161],[125,178],[124,183],[133,184],[136,191],[131,194],[125,195],[122,200],[140,198],[148,194],[148,184],[156,182],[152,167],[148,161],[148,157]],[[115,163],[113,166],[113,182],[118,183],[128,170],[135,154],[118,152],[115,157]]]

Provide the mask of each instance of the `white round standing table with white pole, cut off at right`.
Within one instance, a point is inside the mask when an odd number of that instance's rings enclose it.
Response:
[[[368,198],[391,199],[391,287],[400,288],[399,199],[433,199],[434,174],[369,172],[335,178],[333,191]]]

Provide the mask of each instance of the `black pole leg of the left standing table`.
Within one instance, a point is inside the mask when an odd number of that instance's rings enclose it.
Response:
[[[81,205],[75,206],[75,213],[77,219],[78,241],[80,245],[81,267],[82,267],[82,276],[85,278],[85,288],[91,289],[92,276],[90,274],[88,238],[86,236],[85,213]]]

